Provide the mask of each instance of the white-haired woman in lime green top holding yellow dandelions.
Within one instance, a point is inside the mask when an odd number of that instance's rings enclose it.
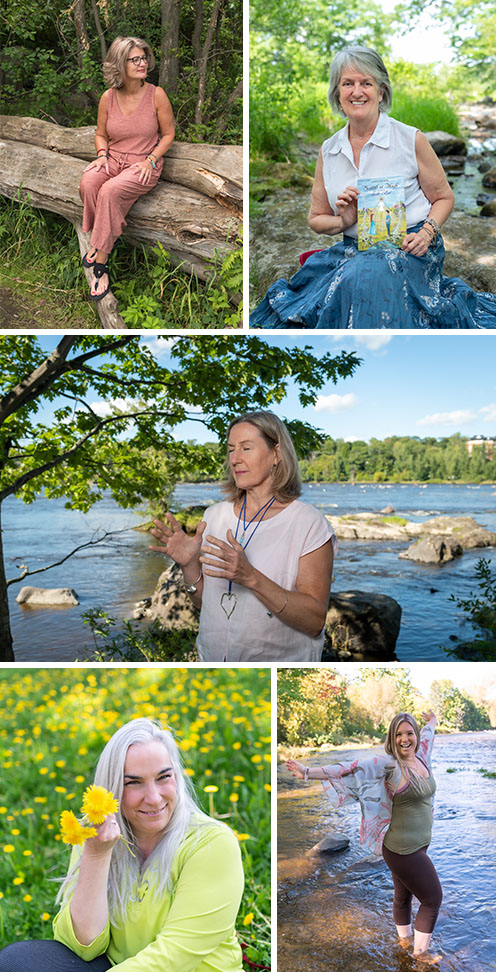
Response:
[[[118,729],[82,812],[62,815],[75,846],[55,941],[9,945],[1,972],[240,972],[238,842],[195,803],[171,733],[148,719]]]

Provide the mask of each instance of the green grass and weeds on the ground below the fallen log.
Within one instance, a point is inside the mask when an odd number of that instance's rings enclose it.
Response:
[[[241,239],[211,263],[207,281],[174,267],[159,243],[151,250],[120,239],[110,256],[112,292],[126,327],[159,329],[240,327]],[[99,318],[88,299],[76,233],[63,217],[21,200],[0,197],[0,291],[19,305],[13,327],[94,329]],[[1,322],[8,326],[9,322]]]

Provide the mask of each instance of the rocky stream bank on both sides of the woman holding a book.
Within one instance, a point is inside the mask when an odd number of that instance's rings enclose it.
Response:
[[[460,120],[461,139],[426,133],[456,198],[443,226],[445,273],[465,280],[473,290],[496,293],[496,104],[464,105]],[[259,200],[250,219],[253,305],[274,280],[289,279],[296,272],[299,253],[332,245],[331,238],[319,236],[307,225],[313,183],[308,169],[319,147],[298,144],[301,164],[276,163],[266,174],[255,169],[250,179]],[[482,212],[490,218],[481,216]]]

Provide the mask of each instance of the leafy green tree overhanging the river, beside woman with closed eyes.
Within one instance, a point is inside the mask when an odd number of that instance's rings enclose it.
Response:
[[[166,340],[157,336],[154,347]],[[309,346],[272,347],[255,336],[180,336],[170,354],[162,364],[135,335],[66,336],[50,354],[35,336],[0,337],[0,514],[8,496],[29,503],[41,490],[80,510],[104,491],[124,507],[156,502],[160,452],[177,475],[197,461],[194,445],[174,438],[186,418],[223,437],[233,414],[281,402],[290,380],[308,405],[359,364],[348,352],[317,357]],[[323,438],[299,421],[288,427],[300,454]],[[8,583],[0,546],[1,661],[14,658]]]

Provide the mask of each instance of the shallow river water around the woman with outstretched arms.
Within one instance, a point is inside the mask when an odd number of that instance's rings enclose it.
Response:
[[[326,752],[310,765],[363,758],[372,750]],[[496,969],[496,732],[438,736],[433,839],[429,849],[443,887],[433,937],[441,972]],[[456,772],[448,773],[448,769]],[[279,968],[284,972],[413,972],[396,944],[390,872],[359,844],[357,804],[331,811],[320,783],[301,784],[280,770],[278,799]],[[337,854],[308,856],[326,834],[351,843]],[[415,913],[415,912],[414,912]],[[424,966],[425,967],[425,966]]]

